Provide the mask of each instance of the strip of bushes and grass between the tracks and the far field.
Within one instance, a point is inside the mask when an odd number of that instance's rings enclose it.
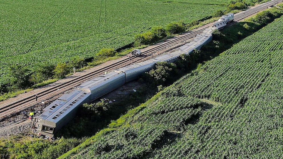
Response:
[[[257,2],[260,1],[231,1],[231,3],[227,5],[226,9],[218,9],[214,11],[213,16],[209,16],[209,18],[221,16],[222,14],[231,11],[237,12],[240,9],[246,9],[249,5],[254,5],[254,3]],[[203,18],[203,20],[208,19],[209,21],[211,20],[209,18]],[[195,26],[201,26],[203,24],[204,23],[201,22],[201,20],[195,20],[187,24],[183,22],[172,22],[167,24],[165,28],[161,26],[155,26],[151,28],[151,30],[148,32],[137,34],[135,36],[135,42],[133,43],[136,46],[140,46],[143,44],[151,44],[164,38],[168,38],[172,35],[175,35],[176,33],[180,33],[187,29],[192,29]],[[127,46],[129,45],[127,44]],[[7,80],[9,82],[1,82],[0,78],[0,101],[15,97],[21,92],[30,91],[38,86],[47,85],[51,81],[56,81],[56,79],[52,78],[64,78],[65,76],[72,74],[73,68],[75,70],[80,71],[92,66],[96,66],[97,64],[100,64],[107,60],[118,58],[119,56],[125,55],[128,51],[129,50],[126,50],[122,53],[120,52],[118,54],[115,54],[114,49],[102,48],[100,52],[89,58],[72,56],[71,58],[68,58],[68,62],[59,62],[57,64],[40,62],[39,64],[36,64],[36,66],[34,66],[36,68],[35,70],[33,68],[30,68],[30,65],[28,65],[27,67],[20,66],[19,64],[10,65],[8,68],[9,74],[6,74],[6,76],[9,76],[9,80]],[[92,58],[93,62],[87,63],[87,61],[91,60]],[[27,89],[27,87],[30,88]]]

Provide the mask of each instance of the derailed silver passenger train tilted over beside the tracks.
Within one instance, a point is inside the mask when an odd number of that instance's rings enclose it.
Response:
[[[234,14],[229,14],[226,17],[221,17],[217,23],[225,23],[226,25],[226,21],[227,23],[233,21],[233,18]],[[44,112],[41,115],[35,117],[35,130],[37,134],[52,137],[74,118],[78,107],[82,104],[89,103],[124,85],[126,82],[138,79],[141,74],[154,68],[157,62],[175,62],[181,54],[190,54],[195,49],[201,49],[203,45],[212,40],[213,31],[221,28],[222,26],[213,25],[175,52],[166,53],[144,62],[119,68],[75,87],[73,91],[62,95],[43,109]]]

